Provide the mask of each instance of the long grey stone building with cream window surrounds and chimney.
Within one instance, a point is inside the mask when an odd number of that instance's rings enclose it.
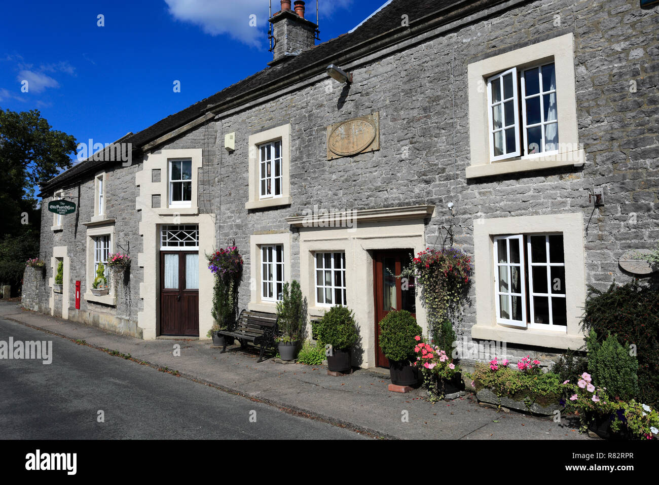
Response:
[[[318,46],[315,24],[276,13],[268,67],[117,141],[130,163],[110,146],[43,184],[44,203],[64,193],[78,210],[43,210],[47,271],[28,305],[144,339],[205,338],[204,252],[235,240],[241,309],[275,311],[295,278],[310,316],[355,311],[355,364],[386,366],[384,308],[427,329],[419,295],[391,275],[453,243],[475,269],[461,338],[545,362],[578,348],[587,284],[634,277],[619,258],[659,239],[658,8],[392,0]],[[98,263],[128,251],[129,274],[94,296]]]

